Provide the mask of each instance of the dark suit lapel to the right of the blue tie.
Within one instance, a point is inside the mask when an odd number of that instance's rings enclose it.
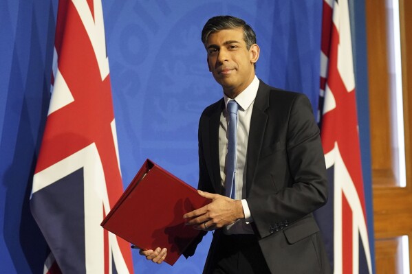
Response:
[[[253,104],[252,117],[250,118],[250,129],[248,139],[248,154],[246,160],[246,196],[254,180],[257,161],[261,152],[263,136],[265,135],[266,122],[268,115],[265,110],[269,107],[270,87],[260,81],[256,99]]]

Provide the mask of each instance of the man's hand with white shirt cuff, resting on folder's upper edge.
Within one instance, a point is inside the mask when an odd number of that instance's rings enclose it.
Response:
[[[186,225],[193,225],[199,230],[213,230],[231,225],[240,218],[245,218],[240,200],[233,200],[219,194],[197,190],[199,195],[212,200],[212,203],[184,214]]]

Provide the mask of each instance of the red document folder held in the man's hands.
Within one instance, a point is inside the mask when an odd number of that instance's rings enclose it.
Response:
[[[140,249],[166,247],[175,264],[200,231],[183,215],[210,203],[195,188],[147,159],[101,225]]]

